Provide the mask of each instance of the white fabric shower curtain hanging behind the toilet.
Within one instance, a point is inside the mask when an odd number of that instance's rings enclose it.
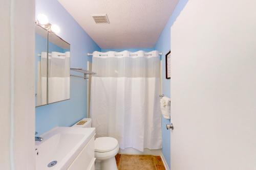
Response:
[[[115,137],[121,149],[161,149],[158,52],[94,52],[92,69],[97,75],[90,113],[97,137]]]

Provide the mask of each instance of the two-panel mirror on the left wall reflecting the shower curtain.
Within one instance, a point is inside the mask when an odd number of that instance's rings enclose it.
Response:
[[[35,106],[70,99],[70,44],[35,25]]]

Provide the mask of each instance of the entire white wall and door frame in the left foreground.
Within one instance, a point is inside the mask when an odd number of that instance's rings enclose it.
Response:
[[[34,5],[0,6],[0,169],[35,169]]]

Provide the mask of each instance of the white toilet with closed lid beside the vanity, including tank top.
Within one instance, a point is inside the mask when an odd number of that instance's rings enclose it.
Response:
[[[83,125],[73,125],[73,127],[91,128],[92,119],[83,118],[86,121]],[[94,152],[96,158],[96,169],[100,170],[117,170],[115,156],[119,151],[118,141],[113,137],[98,137],[95,139]]]

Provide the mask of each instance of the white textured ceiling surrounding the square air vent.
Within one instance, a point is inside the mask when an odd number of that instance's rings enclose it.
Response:
[[[101,48],[142,48],[155,46],[179,0],[58,1]],[[109,25],[94,22],[102,13]]]

